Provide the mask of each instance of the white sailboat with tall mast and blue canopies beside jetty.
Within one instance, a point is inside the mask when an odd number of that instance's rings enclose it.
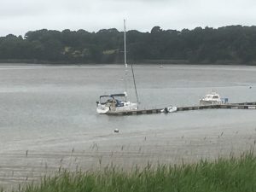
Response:
[[[125,28],[125,20],[124,20],[124,44],[125,44],[125,72],[127,71],[128,65],[126,61],[126,28]],[[134,79],[133,68],[132,69],[132,77],[135,85],[136,95],[137,89]],[[100,114],[108,114],[112,112],[129,112],[137,110],[138,108],[138,99],[137,102],[129,102],[127,101],[127,91],[125,90],[123,93],[114,93],[110,95],[100,96],[100,100],[96,102],[96,112]]]

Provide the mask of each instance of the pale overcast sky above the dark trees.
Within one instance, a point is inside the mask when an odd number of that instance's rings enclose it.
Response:
[[[0,0],[0,36],[46,28],[150,32],[256,25],[255,0]]]

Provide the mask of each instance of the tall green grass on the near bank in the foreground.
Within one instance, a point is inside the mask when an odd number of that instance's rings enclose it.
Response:
[[[102,172],[61,172],[44,177],[40,184],[28,184],[22,192],[247,192],[256,191],[256,158],[201,160],[197,164],[152,167],[131,172],[108,167]]]

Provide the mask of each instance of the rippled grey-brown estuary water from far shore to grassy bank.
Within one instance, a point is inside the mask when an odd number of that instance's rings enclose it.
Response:
[[[140,108],[198,105],[211,90],[256,102],[256,67],[134,66]],[[178,163],[253,150],[256,110],[207,109],[107,116],[100,95],[125,88],[123,65],[0,66],[0,185],[38,180],[60,167]],[[126,87],[136,102],[131,72]],[[113,133],[114,129],[119,133]]]

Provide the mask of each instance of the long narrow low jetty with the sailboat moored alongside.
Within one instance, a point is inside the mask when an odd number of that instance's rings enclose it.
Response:
[[[179,111],[201,110],[210,108],[226,108],[226,109],[256,109],[256,102],[240,102],[240,103],[227,103],[220,105],[202,105],[202,106],[189,106],[189,107],[177,107]],[[108,111],[108,115],[131,115],[131,114],[151,114],[162,113],[164,108],[150,108],[150,109],[137,109],[129,111]]]

